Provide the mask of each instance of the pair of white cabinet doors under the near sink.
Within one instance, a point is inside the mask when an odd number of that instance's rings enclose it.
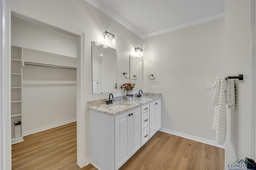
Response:
[[[115,116],[115,167],[140,149],[140,108]]]

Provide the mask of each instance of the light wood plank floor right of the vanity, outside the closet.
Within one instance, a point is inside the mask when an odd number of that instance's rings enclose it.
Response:
[[[224,170],[224,149],[158,131],[120,170]]]

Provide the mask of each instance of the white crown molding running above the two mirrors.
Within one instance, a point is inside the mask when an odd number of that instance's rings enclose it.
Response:
[[[97,0],[85,0],[85,1],[88,2],[89,4],[91,4],[92,6],[96,7],[98,10],[101,10],[106,15],[110,16],[110,18],[117,21],[118,23],[120,23],[121,25],[123,25],[124,27],[129,29],[130,31],[134,32],[136,35],[143,38],[143,34],[140,31],[138,31],[138,29],[134,28],[132,25],[130,25],[128,22],[124,21],[118,15],[114,14],[114,12],[110,11],[104,5],[100,4],[100,2],[98,2]]]

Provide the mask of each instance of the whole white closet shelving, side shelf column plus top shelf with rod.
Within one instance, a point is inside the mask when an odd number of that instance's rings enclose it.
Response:
[[[76,57],[12,46],[11,48],[11,125],[12,144],[23,141],[22,79],[24,64],[76,69]],[[21,121],[21,136],[14,137],[14,122]]]

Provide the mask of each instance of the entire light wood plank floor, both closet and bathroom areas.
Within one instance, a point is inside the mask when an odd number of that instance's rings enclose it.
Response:
[[[120,170],[223,170],[224,149],[157,132]],[[12,170],[97,170],[76,165],[76,122],[12,145]]]

